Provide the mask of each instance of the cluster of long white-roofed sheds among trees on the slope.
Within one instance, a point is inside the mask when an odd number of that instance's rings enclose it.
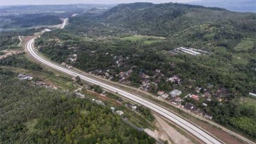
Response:
[[[179,55],[181,53],[188,53],[190,55],[210,55],[208,51],[202,51],[200,49],[195,49],[195,48],[187,48],[187,47],[179,47],[175,48],[174,50],[168,51],[170,55]]]

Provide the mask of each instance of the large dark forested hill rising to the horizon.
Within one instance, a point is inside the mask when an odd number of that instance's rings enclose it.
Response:
[[[170,36],[191,26],[232,20],[253,26],[252,13],[231,12],[181,3],[130,3],[111,8],[102,16],[107,23],[125,26],[143,35]],[[255,30],[255,29],[254,29]]]

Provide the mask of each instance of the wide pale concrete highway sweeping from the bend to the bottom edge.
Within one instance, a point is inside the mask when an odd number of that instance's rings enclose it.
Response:
[[[75,71],[71,71],[70,69],[67,69],[63,66],[60,66],[58,64],[54,64],[53,62],[50,62],[49,60],[46,60],[44,57],[41,57],[38,55],[35,50],[33,49],[33,42],[35,38],[29,40],[28,44],[26,45],[26,48],[28,49],[29,53],[39,62],[42,62],[43,64],[47,66],[51,66],[52,68],[61,71],[63,73],[67,73],[68,75],[72,76],[79,76],[82,80],[85,80],[87,82],[90,82],[92,84],[97,84],[100,87],[104,89],[108,89],[109,91],[113,91],[115,93],[119,93],[121,96],[124,96],[125,98],[129,98],[130,100],[133,100],[134,102],[138,102],[139,104],[152,109],[153,111],[156,111],[158,114],[161,114],[161,116],[164,116],[168,118],[169,120],[173,121],[173,123],[176,123],[180,127],[183,127],[188,132],[193,134],[194,136],[198,137],[201,141],[205,143],[212,143],[212,144],[218,144],[219,142],[216,138],[213,136],[207,134],[207,132],[203,131],[202,129],[196,127],[195,125],[189,123],[188,121],[184,120],[183,118],[173,114],[172,112],[163,109],[163,107],[160,107],[159,105],[156,105],[148,100],[145,100],[139,96],[136,96],[132,93],[128,93],[127,91],[123,91],[122,89],[118,89],[116,87],[113,87],[109,84],[106,84],[104,82],[99,82],[93,78],[88,78],[85,75],[81,75],[80,73],[77,73]]]

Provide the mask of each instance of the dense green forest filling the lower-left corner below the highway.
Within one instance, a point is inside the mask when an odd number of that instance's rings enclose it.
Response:
[[[16,76],[0,68],[0,143],[155,143],[108,107]]]

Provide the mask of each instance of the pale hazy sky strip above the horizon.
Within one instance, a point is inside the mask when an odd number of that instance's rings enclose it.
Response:
[[[71,3],[91,3],[91,4],[118,4],[118,3],[189,3],[195,5],[220,7],[227,10],[240,12],[256,12],[256,0],[0,0],[0,6],[10,5],[42,5],[42,4],[71,4]]]

